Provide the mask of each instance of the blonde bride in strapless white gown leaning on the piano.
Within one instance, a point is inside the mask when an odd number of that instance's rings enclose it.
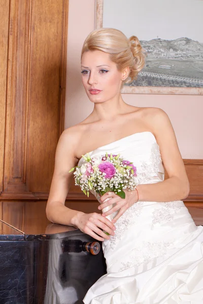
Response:
[[[120,93],[144,62],[136,36],[128,40],[113,28],[92,31],[82,48],[81,72],[94,109],[62,133],[56,149],[47,217],[103,241],[107,274],[88,290],[85,304],[203,303],[203,227],[180,201],[189,182],[173,127],[163,110],[131,106]],[[113,192],[96,196],[98,209],[114,206],[103,214],[64,206],[73,178],[68,172],[82,165],[88,151],[120,153],[137,167],[137,188],[126,189],[125,199]],[[110,214],[116,214],[112,221]]]

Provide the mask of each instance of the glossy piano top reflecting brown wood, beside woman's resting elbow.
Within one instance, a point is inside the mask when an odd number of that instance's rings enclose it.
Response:
[[[71,231],[81,233],[76,227],[51,223],[46,217],[45,201],[2,201],[0,210],[1,240],[51,240]]]

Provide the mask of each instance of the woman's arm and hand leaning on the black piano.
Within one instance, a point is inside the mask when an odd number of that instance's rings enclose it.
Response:
[[[69,173],[69,170],[78,164],[78,159],[75,156],[78,140],[78,133],[69,129],[65,130],[60,136],[56,148],[55,167],[46,215],[53,223],[76,226],[82,232],[99,241],[103,241],[104,238],[109,239],[109,236],[102,230],[111,235],[114,234],[115,227],[110,220],[95,212],[86,214],[67,208],[64,205],[73,178],[73,172]]]

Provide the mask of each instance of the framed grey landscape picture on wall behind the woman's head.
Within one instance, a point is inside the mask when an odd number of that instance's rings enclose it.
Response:
[[[95,1],[95,28],[136,35],[147,52],[122,93],[203,95],[203,0]]]

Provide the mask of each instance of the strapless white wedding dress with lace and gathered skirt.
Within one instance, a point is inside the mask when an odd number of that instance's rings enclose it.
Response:
[[[129,135],[89,154],[106,151],[133,162],[138,184],[164,179],[151,132]],[[182,201],[139,201],[115,226],[115,236],[103,242],[107,274],[88,290],[85,304],[203,304],[203,227],[195,225]]]

